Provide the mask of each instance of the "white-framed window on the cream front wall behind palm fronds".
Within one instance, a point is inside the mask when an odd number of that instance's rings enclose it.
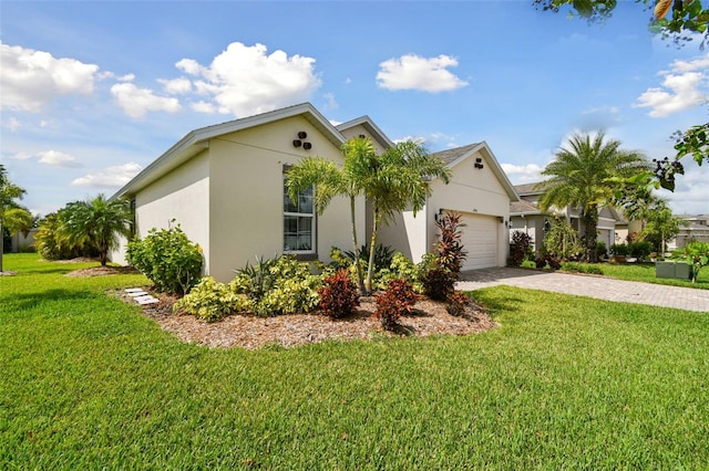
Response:
[[[312,187],[298,195],[298,201],[291,201],[284,178],[284,252],[315,252],[315,208]]]

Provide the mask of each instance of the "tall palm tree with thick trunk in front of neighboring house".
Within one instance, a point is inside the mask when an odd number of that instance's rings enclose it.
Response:
[[[538,185],[544,190],[540,208],[548,210],[572,206],[580,210],[584,223],[586,260],[596,261],[598,210],[612,203],[617,185],[614,178],[629,178],[647,171],[649,163],[638,151],[620,149],[619,140],[604,142],[598,133],[595,138],[575,134],[556,153],[542,175],[549,177]]]

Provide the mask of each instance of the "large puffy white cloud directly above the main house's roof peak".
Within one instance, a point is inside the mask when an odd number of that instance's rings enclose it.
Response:
[[[193,109],[243,117],[310,100],[320,86],[314,63],[312,57],[289,57],[284,51],[267,54],[263,44],[234,42],[208,66],[192,59],[175,66],[194,76],[194,90],[205,96]]]

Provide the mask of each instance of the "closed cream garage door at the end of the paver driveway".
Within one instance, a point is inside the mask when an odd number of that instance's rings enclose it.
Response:
[[[500,220],[494,216],[463,213],[462,242],[467,259],[463,270],[497,266],[497,231]]]

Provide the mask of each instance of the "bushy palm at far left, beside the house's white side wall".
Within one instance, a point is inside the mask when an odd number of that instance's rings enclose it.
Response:
[[[59,214],[61,238],[70,245],[93,247],[102,265],[109,261],[109,251],[119,245],[119,237],[131,236],[133,218],[126,200],[109,201],[99,195],[70,202]]]

